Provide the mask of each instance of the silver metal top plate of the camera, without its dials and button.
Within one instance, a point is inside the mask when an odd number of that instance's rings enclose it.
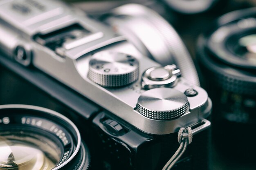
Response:
[[[166,120],[155,120],[141,115],[136,110],[139,96],[145,91],[141,87],[141,76],[148,68],[160,64],[143,55],[133,44],[127,42],[124,36],[117,35],[108,26],[78,14],[77,10],[57,0],[33,1],[43,7],[41,11],[33,4],[28,4],[27,0],[0,1],[0,31],[4,31],[0,46],[9,57],[13,57],[11,51],[16,48],[16,40],[29,42],[33,51],[34,67],[146,133],[163,135],[177,132],[180,127],[196,124],[211,113],[211,102],[206,91],[180,77],[173,89],[184,93],[186,89],[193,88],[198,92],[194,97],[187,97],[187,113],[177,119]],[[22,14],[12,8],[13,3],[21,3],[29,8],[31,13]],[[45,35],[58,32],[59,29],[72,24],[79,24],[90,33],[102,32],[103,37],[79,44],[72,49],[62,48],[61,54],[33,40],[38,33]],[[9,38],[14,44],[4,41],[5,38]],[[88,78],[89,62],[92,55],[99,51],[125,53],[135,57],[139,62],[138,80],[119,88],[106,88],[94,83]],[[182,57],[182,53],[180,54]]]

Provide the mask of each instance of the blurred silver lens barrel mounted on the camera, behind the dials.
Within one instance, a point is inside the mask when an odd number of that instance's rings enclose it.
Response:
[[[126,4],[110,12],[108,22],[144,55],[163,66],[176,64],[182,76],[200,85],[191,55],[175,29],[161,15],[139,4]]]

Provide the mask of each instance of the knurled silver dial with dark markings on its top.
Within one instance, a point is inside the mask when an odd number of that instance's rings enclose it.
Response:
[[[104,87],[119,87],[139,77],[139,62],[125,53],[101,51],[89,62],[89,79]]]

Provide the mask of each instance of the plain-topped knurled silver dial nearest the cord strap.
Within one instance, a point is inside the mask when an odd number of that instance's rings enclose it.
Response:
[[[189,102],[184,93],[173,88],[153,88],[140,95],[137,110],[150,119],[174,119],[189,110]]]

